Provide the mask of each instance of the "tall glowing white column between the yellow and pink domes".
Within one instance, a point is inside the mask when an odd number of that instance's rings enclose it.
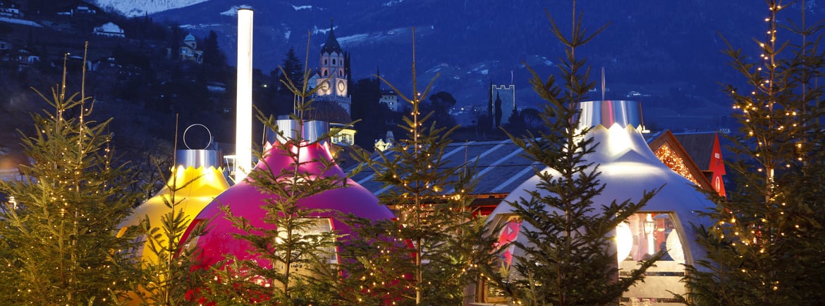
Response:
[[[252,170],[252,9],[238,9],[238,106],[235,110],[235,183]]]

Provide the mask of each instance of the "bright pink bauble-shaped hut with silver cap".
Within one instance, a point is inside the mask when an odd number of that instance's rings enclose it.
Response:
[[[297,130],[296,126],[297,124],[294,120],[278,120],[278,127],[281,131],[295,132],[295,130]],[[282,151],[279,146],[269,146],[262,160],[257,163],[255,169],[252,171],[268,171],[276,175],[281,174],[281,169],[293,169],[295,167],[290,154],[299,152],[301,156],[300,163],[302,163],[302,165],[299,166],[299,171],[321,177],[337,175],[343,178],[344,172],[335,164],[326,168],[326,171],[322,173],[325,168],[320,160],[326,160],[332,163],[328,143],[317,141],[318,136],[321,135],[322,132],[325,132],[327,128],[328,123],[325,122],[312,121],[305,123],[303,145],[300,147],[290,146],[290,151],[293,151],[292,153]],[[202,260],[202,267],[214,265],[214,263],[224,259],[225,254],[233,254],[235,257],[238,257],[238,259],[253,259],[252,255],[247,253],[247,250],[250,249],[247,241],[233,237],[233,234],[243,234],[243,231],[234,227],[232,223],[224,217],[224,211],[221,211],[220,206],[229,206],[229,210],[233,215],[246,218],[250,224],[255,227],[275,229],[275,225],[264,222],[263,218],[266,216],[266,211],[262,208],[262,205],[265,205],[266,201],[274,197],[274,195],[262,193],[262,190],[259,190],[259,188],[249,183],[249,179],[251,178],[236,183],[226,192],[216,197],[213,202],[210,202],[210,204],[200,212],[196,220],[192,222],[190,228],[187,229],[186,236],[189,235],[189,232],[191,232],[197,223],[203,220],[210,220],[208,232],[198,237],[194,242],[195,248],[201,252],[200,259]],[[335,218],[334,215],[337,212],[344,214],[351,213],[355,216],[370,220],[394,218],[392,211],[390,211],[387,206],[380,205],[378,199],[372,192],[361,187],[361,185],[349,178],[347,178],[346,182],[345,187],[323,191],[300,200],[299,206],[304,206],[308,209],[328,210],[328,212],[318,213],[312,217],[319,219],[326,218],[329,220],[326,229],[335,230],[338,234],[351,233],[347,225]]]

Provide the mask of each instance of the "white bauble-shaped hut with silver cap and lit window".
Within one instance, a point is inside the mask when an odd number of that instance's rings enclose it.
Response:
[[[705,250],[695,242],[695,231],[691,224],[709,225],[709,220],[697,214],[713,206],[694,183],[676,174],[658,160],[642,137],[642,112],[639,102],[627,100],[587,101],[579,104],[582,127],[592,127],[587,137],[600,143],[587,163],[599,165],[598,179],[606,184],[600,195],[593,198],[596,206],[613,200],[636,201],[644,190],[664,187],[634,216],[615,230],[615,252],[620,275],[636,267],[636,262],[667,249],[667,255],[656,262],[656,267],[648,269],[645,282],[637,283],[625,292],[622,304],[675,304],[672,291],[686,292],[680,282],[685,269],[682,264],[692,265],[704,257]],[[543,171],[553,171],[543,169]],[[497,206],[488,219],[489,225],[507,225],[502,229],[502,237],[526,243],[519,232],[526,223],[510,222],[516,218],[513,207],[507,203],[517,202],[520,197],[530,198],[528,190],[538,190],[540,178],[536,175],[521,185]],[[539,190],[540,192],[545,192]],[[596,208],[595,213],[601,213]],[[511,224],[507,224],[511,223]],[[504,232],[506,230],[506,232]],[[512,240],[511,240],[512,241]],[[519,254],[518,248],[504,250]],[[503,254],[505,258],[509,254]]]

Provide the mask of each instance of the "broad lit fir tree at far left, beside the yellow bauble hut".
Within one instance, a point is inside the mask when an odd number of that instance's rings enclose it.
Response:
[[[111,303],[134,277],[134,239],[114,234],[139,196],[133,171],[112,157],[111,119],[92,121],[91,98],[67,96],[65,81],[51,98],[38,91],[54,112],[32,114],[36,132],[21,138],[24,178],[0,183],[16,202],[0,206],[4,304]]]

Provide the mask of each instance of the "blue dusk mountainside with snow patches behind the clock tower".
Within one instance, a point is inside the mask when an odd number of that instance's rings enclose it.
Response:
[[[452,93],[459,104],[486,104],[491,83],[515,84],[520,105],[537,104],[525,66],[540,76],[558,72],[554,63],[564,51],[549,31],[547,13],[565,33],[571,22],[569,2],[537,0],[98,1],[123,12],[154,12],[153,20],[176,21],[197,37],[214,30],[230,65],[237,33],[234,13],[239,6],[252,7],[254,66],[264,73],[276,69],[290,48],[303,57],[308,39],[309,67],[317,67],[332,19],[342,48],[351,53],[356,80],[380,70],[407,92],[412,87],[414,27],[419,82],[440,74],[434,90]],[[825,16],[825,7],[806,3],[808,18]],[[164,5],[174,8],[164,10]],[[798,16],[800,9],[790,7],[794,12],[786,16]],[[652,97],[645,101],[646,109],[664,108],[680,116],[688,108],[729,109],[719,82],[741,77],[727,66],[729,58],[720,50],[726,39],[745,52],[757,52],[752,39],[764,35],[766,14],[763,2],[717,0],[579,2],[577,11],[583,13],[588,33],[610,24],[576,52],[594,68],[591,80],[605,68],[610,89],[606,98],[626,99],[633,91],[634,99]]]

